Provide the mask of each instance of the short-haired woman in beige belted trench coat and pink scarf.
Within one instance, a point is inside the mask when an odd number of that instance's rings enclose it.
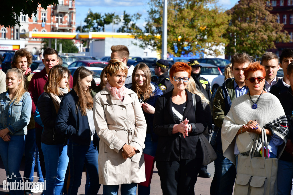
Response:
[[[108,83],[94,97],[94,123],[99,144],[99,182],[103,194],[136,194],[144,182],[144,139],[147,124],[137,94],[125,88],[127,67],[112,59],[105,68]]]

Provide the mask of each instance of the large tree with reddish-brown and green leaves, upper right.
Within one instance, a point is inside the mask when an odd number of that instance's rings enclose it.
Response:
[[[277,23],[277,16],[270,13],[266,0],[241,0],[229,12],[231,22],[224,35],[230,44],[227,55],[247,52],[260,58],[267,49],[275,49],[274,42],[289,42],[290,36],[283,31],[284,24]]]

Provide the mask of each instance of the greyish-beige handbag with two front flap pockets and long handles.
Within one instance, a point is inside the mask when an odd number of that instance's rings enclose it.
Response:
[[[258,137],[255,136],[255,143],[250,149],[248,156],[238,155],[237,175],[235,181],[234,194],[237,195],[274,195],[277,194],[277,170],[278,159],[268,158],[268,149],[266,158],[264,155],[264,145],[268,148],[265,129],[262,130],[262,148],[263,157],[253,157],[258,143]],[[265,143],[264,143],[265,141]],[[255,148],[252,152],[252,149]]]

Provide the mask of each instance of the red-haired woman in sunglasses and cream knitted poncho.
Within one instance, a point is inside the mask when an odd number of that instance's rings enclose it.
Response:
[[[257,134],[261,135],[261,129],[267,134],[270,158],[280,155],[288,134],[287,119],[280,101],[263,89],[265,68],[259,61],[251,63],[244,69],[244,77],[249,93],[232,102],[221,132],[223,154],[236,168],[236,155],[248,155],[253,139]],[[260,157],[261,136],[257,146],[253,155]]]

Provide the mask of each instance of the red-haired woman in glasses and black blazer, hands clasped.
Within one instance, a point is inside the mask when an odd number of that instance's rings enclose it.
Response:
[[[206,129],[201,98],[186,87],[191,67],[176,62],[170,69],[174,89],[156,102],[154,132],[159,136],[156,167],[163,194],[194,194],[197,174],[202,165],[202,148],[198,135]],[[196,111],[195,111],[196,110]]]

